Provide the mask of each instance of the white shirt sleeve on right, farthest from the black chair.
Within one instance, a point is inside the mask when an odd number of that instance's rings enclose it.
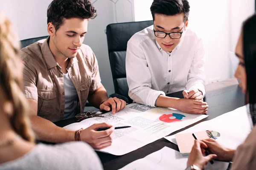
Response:
[[[205,50],[201,39],[198,39],[192,64],[187,77],[186,90],[198,89],[205,95]]]

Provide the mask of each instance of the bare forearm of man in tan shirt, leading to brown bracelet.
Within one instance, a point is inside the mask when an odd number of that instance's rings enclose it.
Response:
[[[56,126],[47,119],[36,115],[29,116],[36,139],[53,143],[64,143],[75,140],[75,131]]]

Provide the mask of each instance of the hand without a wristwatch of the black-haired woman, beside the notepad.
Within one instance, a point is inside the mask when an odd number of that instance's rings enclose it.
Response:
[[[215,139],[204,139],[201,141],[208,146],[211,153],[216,154],[218,156],[217,160],[232,161],[233,156],[235,154],[235,150],[231,150],[221,146]]]

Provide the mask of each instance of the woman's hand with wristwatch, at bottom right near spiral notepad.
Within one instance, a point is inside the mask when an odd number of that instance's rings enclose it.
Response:
[[[204,156],[205,148],[207,145],[204,142],[195,140],[194,146],[189,154],[189,159],[187,161],[187,166],[196,165],[201,170],[204,170],[206,167],[207,162],[212,159],[217,158],[215,154],[209,154],[208,156]]]

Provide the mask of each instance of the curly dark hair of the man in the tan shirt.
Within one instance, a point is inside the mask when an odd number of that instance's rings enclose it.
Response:
[[[96,9],[90,0],[53,0],[47,9],[47,24],[52,23],[57,31],[63,19],[94,19]]]

